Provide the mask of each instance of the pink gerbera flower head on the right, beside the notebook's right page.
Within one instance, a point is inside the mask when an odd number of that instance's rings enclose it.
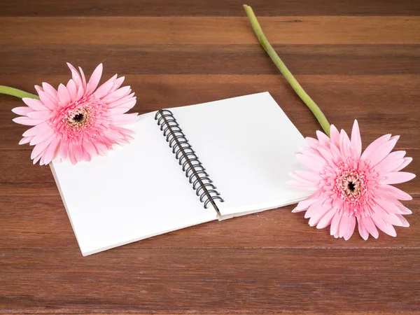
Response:
[[[344,130],[338,132],[331,125],[330,138],[316,132],[318,140],[307,138],[309,147],[297,153],[309,171],[290,174],[290,185],[314,194],[299,202],[293,212],[306,211],[309,225],[316,228],[331,226],[330,234],[349,239],[358,222],[363,239],[369,234],[378,237],[378,230],[393,237],[395,226],[408,227],[402,216],[412,211],[399,200],[412,197],[390,184],[404,183],[414,174],[399,172],[412,158],[405,158],[405,151],[391,153],[398,136],[386,134],[367,146],[362,154],[362,141],[357,120],[354,121],[351,139]]]

